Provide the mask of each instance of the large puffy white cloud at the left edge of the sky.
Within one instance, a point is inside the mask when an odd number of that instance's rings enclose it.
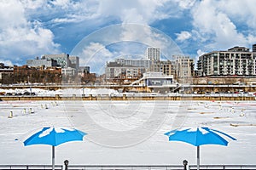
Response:
[[[0,54],[3,59],[19,60],[20,56],[52,54],[59,44],[54,34],[38,21],[26,19],[25,7],[18,0],[0,4]]]

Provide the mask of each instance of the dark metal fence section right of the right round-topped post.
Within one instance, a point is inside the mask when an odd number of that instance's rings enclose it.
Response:
[[[196,170],[196,165],[189,165],[189,170]],[[211,170],[218,170],[218,169],[247,169],[247,170],[256,170],[256,165],[201,165],[201,170],[211,169]]]

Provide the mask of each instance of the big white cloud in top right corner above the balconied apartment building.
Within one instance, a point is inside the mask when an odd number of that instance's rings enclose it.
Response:
[[[256,16],[256,13],[253,11],[245,13],[234,12],[245,11],[244,7],[248,4],[248,1],[223,2],[212,0],[204,0],[197,3],[195,8],[191,10],[193,26],[195,28],[194,33],[198,33],[193,35],[193,37],[202,37],[204,41],[206,41],[205,38],[207,37],[207,44],[204,44],[204,46],[211,49],[226,49],[236,45],[248,46],[254,43],[255,32],[247,33],[241,31],[232,20],[248,20],[249,15]],[[241,6],[240,9],[237,8],[238,6]],[[249,29],[253,28],[253,26],[249,26],[246,22],[243,23],[243,26],[248,26]],[[201,39],[198,39],[198,41],[200,42]]]

